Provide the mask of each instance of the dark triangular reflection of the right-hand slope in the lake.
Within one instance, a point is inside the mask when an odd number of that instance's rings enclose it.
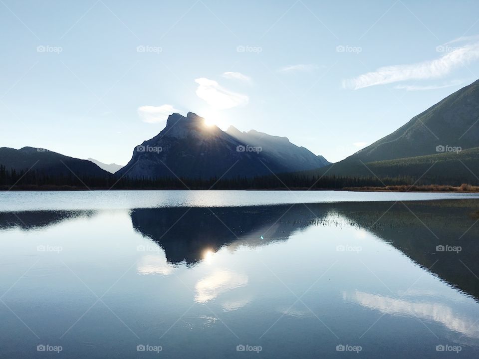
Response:
[[[338,203],[351,225],[365,228],[454,287],[479,300],[479,222],[475,200]],[[458,252],[438,246],[461,247]]]

